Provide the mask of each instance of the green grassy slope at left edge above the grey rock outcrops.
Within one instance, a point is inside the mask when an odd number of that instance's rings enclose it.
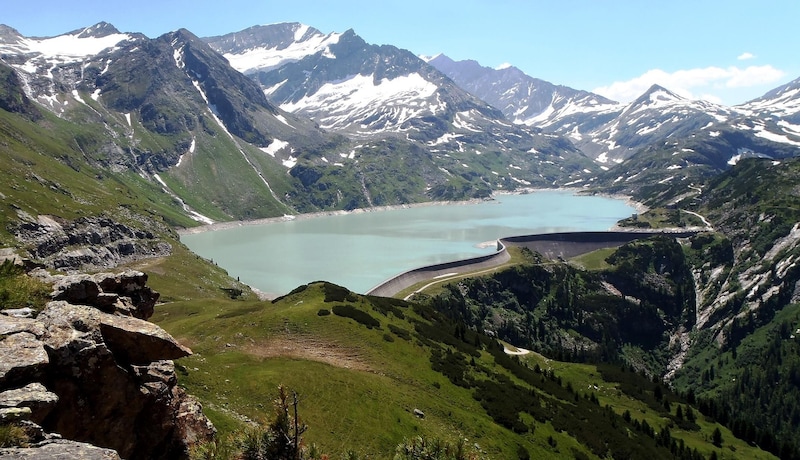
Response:
[[[49,114],[39,125],[0,111],[0,225],[7,230],[17,210],[65,219],[127,208],[171,225],[194,225],[171,197],[133,173],[89,166],[76,139],[92,134]],[[32,141],[35,139],[35,141]],[[3,232],[4,244],[12,244]]]

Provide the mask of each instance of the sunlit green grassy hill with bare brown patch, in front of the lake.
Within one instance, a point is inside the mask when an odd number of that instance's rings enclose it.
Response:
[[[195,352],[178,363],[180,382],[200,397],[221,436],[241,429],[243,420],[271,417],[271,401],[283,384],[300,395],[300,416],[310,427],[306,442],[332,454],[354,449],[386,458],[404,438],[426,434],[449,441],[467,438],[489,458],[516,458],[519,446],[532,458],[571,458],[576,452],[592,457],[585,446],[550,422],[537,421],[533,433],[521,435],[494,423],[470,390],[431,369],[429,346],[392,332],[390,324],[413,337],[409,319],[418,316],[411,308],[400,309],[402,318],[382,315],[367,298],[325,302],[323,291],[322,284],[313,284],[276,303],[209,299],[157,308],[154,321]],[[369,312],[381,328],[368,329],[335,314],[318,315],[321,309],[340,304]],[[591,391],[584,389],[597,385],[601,405],[610,405],[617,414],[629,410],[634,419],[647,420],[658,431],[669,423],[663,413],[618,390],[617,384],[604,382],[593,366],[533,354],[525,360],[531,367],[538,363],[555,370],[564,387],[571,386],[584,397]],[[486,351],[476,361],[507,373]],[[514,377],[512,381],[520,383]],[[426,417],[415,417],[415,408]],[[676,410],[674,406],[672,411]],[[528,419],[523,416],[523,420]],[[704,455],[716,450],[721,458],[771,458],[724,429],[723,448],[714,448],[707,439],[716,427],[700,421],[700,431],[673,428],[673,436]]]

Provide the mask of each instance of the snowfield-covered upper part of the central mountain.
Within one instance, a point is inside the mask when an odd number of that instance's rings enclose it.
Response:
[[[323,35],[300,24],[274,24],[207,41],[257,79],[271,101],[331,131],[430,137],[420,133],[435,128],[433,120],[453,122],[455,113],[464,124],[502,119],[409,51],[369,45],[352,30]]]

